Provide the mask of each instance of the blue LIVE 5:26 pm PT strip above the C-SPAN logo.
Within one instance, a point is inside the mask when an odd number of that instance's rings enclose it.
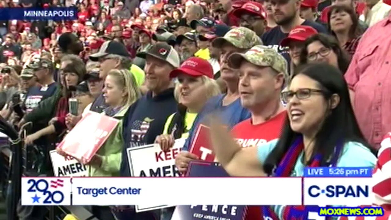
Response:
[[[307,167],[304,177],[372,177],[372,167]]]

